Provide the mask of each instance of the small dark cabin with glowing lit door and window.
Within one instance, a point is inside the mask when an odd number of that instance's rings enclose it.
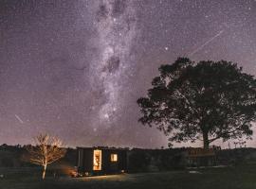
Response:
[[[77,147],[78,174],[94,176],[123,173],[127,170],[127,149]]]

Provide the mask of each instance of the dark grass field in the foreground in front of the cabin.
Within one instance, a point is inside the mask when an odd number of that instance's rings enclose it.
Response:
[[[87,189],[87,188],[157,188],[157,189],[255,189],[256,164],[237,167],[123,174],[91,178],[46,178],[40,180],[36,169],[0,169],[1,189]],[[1,173],[0,173],[1,174]]]

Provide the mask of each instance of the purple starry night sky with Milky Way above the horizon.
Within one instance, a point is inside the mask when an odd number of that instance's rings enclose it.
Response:
[[[255,75],[256,1],[0,0],[0,144],[166,146],[136,101],[180,56]]]

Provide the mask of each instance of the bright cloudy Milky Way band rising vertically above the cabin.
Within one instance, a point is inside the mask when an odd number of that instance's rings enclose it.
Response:
[[[91,64],[93,80],[102,84],[105,102],[99,112],[106,126],[116,121],[123,108],[123,83],[133,72],[131,44],[137,35],[136,11],[131,1],[105,0],[96,10],[100,57]],[[111,122],[111,123],[109,123]]]

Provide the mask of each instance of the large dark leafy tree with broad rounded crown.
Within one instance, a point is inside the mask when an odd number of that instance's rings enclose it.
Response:
[[[139,122],[171,142],[245,139],[256,120],[256,80],[230,61],[178,58],[162,65],[146,97],[137,100]]]

